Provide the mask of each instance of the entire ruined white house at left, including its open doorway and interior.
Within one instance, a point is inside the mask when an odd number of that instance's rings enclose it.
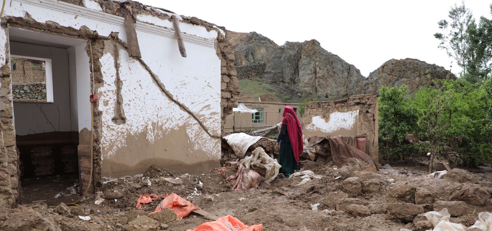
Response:
[[[222,29],[134,1],[8,1],[0,205],[15,203],[25,177],[73,174],[83,192],[153,164],[218,167],[239,93]]]

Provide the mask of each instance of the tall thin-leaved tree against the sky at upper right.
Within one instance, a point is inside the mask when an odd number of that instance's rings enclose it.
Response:
[[[448,17],[449,22],[441,20],[437,23],[441,30],[434,34],[440,40],[438,47],[446,50],[448,56],[455,58],[458,66],[463,68],[461,77],[470,83],[482,82],[492,68],[492,20],[482,16],[477,25],[464,1],[460,6],[451,7]]]

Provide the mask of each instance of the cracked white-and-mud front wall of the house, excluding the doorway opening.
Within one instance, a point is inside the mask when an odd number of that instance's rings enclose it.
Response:
[[[142,58],[134,58],[128,55],[123,19],[118,17],[123,10],[114,16],[119,3],[81,2],[90,3],[92,10],[83,9],[79,3],[74,6],[56,0],[13,0],[5,9],[4,29],[0,31],[1,37],[10,26],[88,41],[75,48],[86,53],[77,60],[87,67],[84,81],[90,81],[91,90],[83,96],[88,98],[94,89],[99,100],[92,105],[93,137],[91,126],[81,126],[90,124],[91,115],[79,116],[80,180],[85,185],[89,181],[91,155],[96,186],[102,176],[139,173],[150,164],[181,171],[218,166],[221,128],[237,106],[235,97],[239,94],[234,55],[222,29],[183,16],[180,26],[188,57],[182,58],[170,21],[172,13],[130,1],[142,52]],[[50,10],[52,14],[43,13]],[[97,15],[109,19],[101,21]],[[6,34],[1,42],[5,46],[0,46],[0,53],[4,49],[8,57]],[[0,191],[8,195],[0,196],[0,202],[11,204],[17,198],[19,184],[15,179],[19,173],[14,167],[18,168],[19,158],[15,151],[10,66],[5,57],[2,62],[7,64],[1,69],[0,148],[6,152],[2,151],[0,158],[8,157],[9,166],[0,165],[0,174],[8,172],[12,178],[9,183],[14,183],[0,185]],[[91,59],[93,65],[89,68],[87,62]],[[77,70],[77,78],[79,73]]]

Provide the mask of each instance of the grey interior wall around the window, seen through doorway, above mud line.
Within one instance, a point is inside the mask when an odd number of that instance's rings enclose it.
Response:
[[[10,54],[48,58],[52,61],[53,103],[19,103],[14,101],[16,135],[73,131],[66,49],[10,42]],[[49,84],[48,81],[47,84]]]

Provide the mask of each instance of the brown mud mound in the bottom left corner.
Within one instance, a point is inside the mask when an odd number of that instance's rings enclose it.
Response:
[[[17,212],[8,214],[8,219],[0,225],[2,231],[61,231],[50,220],[38,212]]]

